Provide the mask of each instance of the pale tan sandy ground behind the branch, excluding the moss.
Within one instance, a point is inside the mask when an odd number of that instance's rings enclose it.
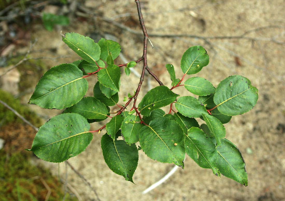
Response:
[[[116,17],[117,22],[140,31],[140,26],[137,24],[136,5],[133,1],[95,1],[94,3],[95,5],[101,3],[100,7],[94,9],[95,13],[102,13],[104,17],[109,18]],[[172,63],[177,71],[177,77],[181,77],[183,75],[180,70],[182,54],[190,46],[202,45],[208,51],[210,63],[197,76],[204,77],[217,86],[227,76],[238,74],[249,78],[252,85],[258,88],[259,99],[255,108],[244,115],[234,116],[231,122],[225,124],[226,138],[239,147],[245,159],[248,186],[245,187],[226,177],[218,178],[210,169],[200,168],[186,156],[184,170],[179,169],[164,184],[142,195],[141,192],[145,188],[158,181],[174,165],[152,161],[143,151],[139,151],[139,164],[133,177],[136,185],[127,182],[123,177],[113,173],[105,164],[100,145],[104,130],[100,134],[94,134],[86,151],[69,159],[69,162],[88,179],[101,200],[285,200],[285,51],[284,45],[266,41],[266,38],[275,36],[278,37],[276,40],[284,41],[284,0],[159,0],[141,3],[148,33],[235,36],[258,27],[283,26],[283,28],[257,30],[246,35],[257,38],[256,41],[210,39],[205,43],[204,40],[187,37],[150,37],[155,48],[148,49],[148,65],[159,75],[165,85],[170,86],[171,82],[164,65]],[[132,15],[120,17],[120,14]],[[142,55],[141,36],[100,20],[95,25],[91,22],[81,24],[74,22],[72,26],[64,28],[63,32],[72,31],[88,35],[100,29],[105,34],[114,34],[117,37],[122,46],[122,53],[129,61],[136,60]],[[61,42],[59,29],[47,34],[40,25],[37,26],[33,33],[33,37],[38,39],[35,49],[52,47],[57,49],[57,54],[70,56],[64,60],[49,61],[51,66],[79,59]],[[34,56],[38,56],[37,54]],[[116,63],[123,63],[123,61],[117,59]],[[141,67],[140,63],[135,69],[141,73]],[[148,91],[147,80],[148,77],[145,79],[140,99],[143,93]],[[92,96],[92,88],[97,78],[89,77],[88,81],[90,85],[87,95]],[[120,103],[123,103],[122,99],[128,92],[132,93],[136,89],[138,82],[139,79],[135,76],[127,77],[122,73]],[[150,85],[155,87],[157,83],[150,81]],[[182,87],[178,87],[175,92],[181,96],[189,95],[188,91],[180,88]],[[23,102],[27,102],[29,96],[25,96]],[[60,112],[58,110],[48,112],[39,109],[38,106],[31,106],[31,108],[42,114],[46,120]],[[97,129],[104,123],[106,122],[92,124],[92,126]],[[38,161],[34,162],[38,163]],[[56,164],[42,161],[41,163],[54,170],[55,174],[57,173]],[[62,177],[65,170],[65,164],[61,163]],[[68,182],[78,191],[83,200],[96,200],[95,194],[70,169],[68,169]]]

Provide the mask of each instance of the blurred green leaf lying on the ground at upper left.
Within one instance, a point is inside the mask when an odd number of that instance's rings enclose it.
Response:
[[[43,13],[42,22],[44,24],[44,28],[48,31],[52,31],[54,25],[68,25],[69,18],[63,15],[54,15],[52,13]]]

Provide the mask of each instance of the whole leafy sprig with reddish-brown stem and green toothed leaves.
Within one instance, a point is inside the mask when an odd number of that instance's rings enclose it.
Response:
[[[208,168],[215,175],[224,175],[247,186],[245,162],[239,149],[225,139],[223,124],[232,116],[251,110],[258,99],[258,90],[246,77],[231,75],[215,88],[202,77],[190,77],[181,84],[186,75],[201,71],[208,65],[209,56],[201,46],[190,47],[181,58],[181,79],[176,78],[174,66],[166,64],[172,81],[171,87],[164,86],[147,65],[148,34],[144,26],[139,0],[139,21],[144,34],[143,56],[136,61],[116,65],[114,59],[121,46],[112,40],[93,39],[77,33],[66,33],[63,42],[82,60],[52,67],[38,82],[29,104],[48,109],[64,109],[63,114],[52,117],[40,127],[32,148],[39,158],[50,162],[62,162],[84,151],[92,140],[92,133],[106,128],[101,147],[108,167],[115,173],[133,182],[138,164],[138,148],[153,160],[174,163],[184,168],[185,153],[200,167]],[[129,68],[143,61],[140,81],[134,95],[119,105],[121,67],[130,74]],[[144,80],[145,70],[158,82],[146,93],[137,105],[137,97]],[[86,77],[97,74],[98,82],[93,88],[93,97],[84,97],[88,82]],[[192,94],[179,97],[173,92],[184,86]],[[127,98],[125,98],[127,100]],[[133,101],[132,108],[127,106]],[[110,112],[117,105],[119,110]],[[161,107],[170,105],[168,114]],[[178,110],[173,109],[173,105]],[[111,114],[114,116],[111,116]],[[103,127],[89,131],[90,123],[110,118]],[[199,125],[195,118],[205,124]],[[118,140],[122,136],[123,140]]]

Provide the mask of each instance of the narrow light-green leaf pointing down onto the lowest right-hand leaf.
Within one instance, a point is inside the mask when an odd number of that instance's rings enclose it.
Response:
[[[221,138],[225,138],[226,129],[224,125],[215,117],[209,114],[202,114],[204,121],[206,122],[209,130],[217,140],[217,145],[221,144]]]

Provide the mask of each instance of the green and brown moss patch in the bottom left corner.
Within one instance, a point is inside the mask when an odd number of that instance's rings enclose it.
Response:
[[[44,186],[44,182],[51,189],[49,201],[62,200],[64,196],[62,183],[47,169],[31,165],[29,153],[13,153],[7,158],[5,151],[0,150],[1,201],[45,200],[48,189]],[[67,193],[66,200],[77,199]]]

